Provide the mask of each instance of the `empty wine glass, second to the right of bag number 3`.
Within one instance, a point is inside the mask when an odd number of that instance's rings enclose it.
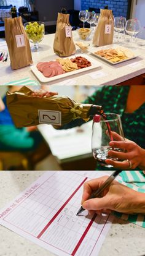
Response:
[[[130,19],[127,20],[127,24],[125,26],[125,32],[130,35],[130,44],[132,43],[132,37],[136,36],[139,33],[141,28],[141,24],[138,19]]]

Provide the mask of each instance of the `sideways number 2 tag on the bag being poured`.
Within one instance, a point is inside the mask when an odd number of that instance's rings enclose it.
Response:
[[[61,112],[38,109],[39,124],[57,124],[61,126]]]

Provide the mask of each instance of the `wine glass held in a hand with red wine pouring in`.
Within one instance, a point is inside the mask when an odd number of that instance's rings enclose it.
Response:
[[[110,164],[106,164],[106,159],[115,161],[119,161],[119,159],[108,156],[108,151],[112,150],[109,142],[111,140],[124,140],[124,135],[119,114],[108,113],[105,116],[105,119],[99,115],[93,117],[92,153],[101,166],[111,168]],[[113,150],[122,151],[120,148],[113,148]]]

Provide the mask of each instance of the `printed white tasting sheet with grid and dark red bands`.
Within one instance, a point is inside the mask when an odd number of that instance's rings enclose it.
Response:
[[[85,215],[76,216],[83,189],[80,184],[83,184],[84,178],[72,172],[69,176],[65,172],[53,174],[33,194],[12,210],[4,221],[68,255],[91,255],[108,216],[95,216],[94,221],[92,217]],[[76,193],[71,197],[74,191]],[[69,202],[45,229],[69,197],[71,197]],[[89,225],[91,225],[90,229],[83,237]]]

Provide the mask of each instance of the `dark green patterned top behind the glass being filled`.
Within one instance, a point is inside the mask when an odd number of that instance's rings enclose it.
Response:
[[[84,103],[103,105],[104,113],[119,114],[125,138],[133,140],[140,147],[145,148],[145,103],[133,113],[125,113],[129,89],[129,86],[100,87]],[[81,126],[84,123],[85,121],[82,119],[76,119],[63,126],[63,129]],[[108,168],[99,166],[97,169]]]

